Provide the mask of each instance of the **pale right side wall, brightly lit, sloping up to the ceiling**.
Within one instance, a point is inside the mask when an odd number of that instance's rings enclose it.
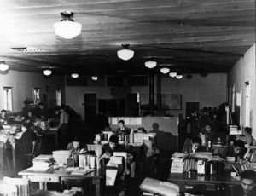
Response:
[[[256,138],[256,94],[255,94],[255,43],[247,50],[246,54],[241,57],[236,65],[228,74],[228,85],[235,84],[236,92],[241,92],[241,124],[245,124],[245,82],[249,81],[251,85],[250,91],[250,120],[249,125],[253,128],[253,136]]]

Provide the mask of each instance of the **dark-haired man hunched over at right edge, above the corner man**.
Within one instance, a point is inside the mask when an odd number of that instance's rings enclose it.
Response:
[[[242,159],[246,153],[246,148],[244,147],[244,142],[241,140],[234,141],[232,145],[224,148],[220,157],[227,159],[227,157],[235,157],[236,160]]]

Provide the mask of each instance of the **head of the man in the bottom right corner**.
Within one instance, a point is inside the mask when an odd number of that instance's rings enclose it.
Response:
[[[256,186],[256,172],[253,170],[245,170],[241,172],[241,187],[244,193],[251,193]]]

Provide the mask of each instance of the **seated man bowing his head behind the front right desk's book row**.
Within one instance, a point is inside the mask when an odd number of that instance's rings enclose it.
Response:
[[[192,141],[184,143],[183,153],[195,153],[195,152],[206,152],[206,147],[201,146],[201,138],[195,136],[192,138]]]

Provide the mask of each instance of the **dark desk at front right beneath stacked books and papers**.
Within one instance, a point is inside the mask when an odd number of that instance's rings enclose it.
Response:
[[[207,190],[215,190],[215,185],[219,183],[226,183],[228,185],[235,186],[240,185],[240,181],[236,178],[233,178],[229,175],[223,175],[223,176],[216,176],[216,175],[191,175],[189,177],[188,173],[183,174],[177,174],[172,173],[168,177],[168,182],[172,182],[177,184],[181,191],[184,190],[184,187],[186,186],[193,186],[197,184],[204,184],[207,187]]]

